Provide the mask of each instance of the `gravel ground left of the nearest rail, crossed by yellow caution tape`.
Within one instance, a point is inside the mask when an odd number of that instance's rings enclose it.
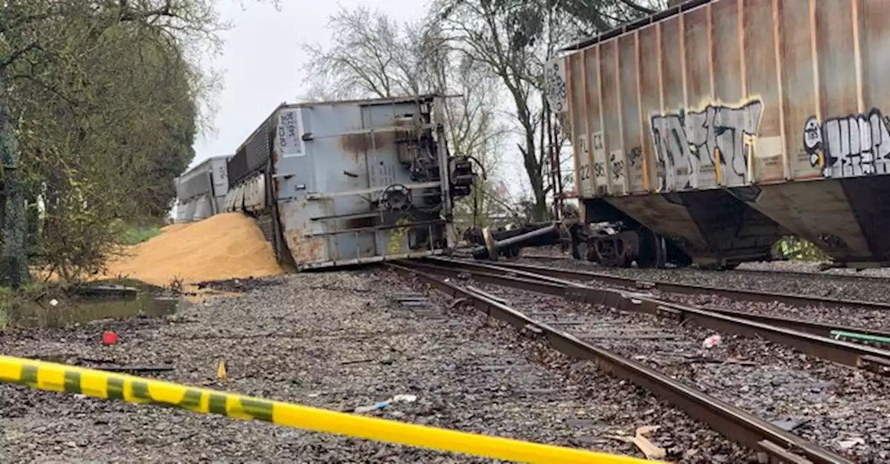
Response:
[[[174,316],[0,332],[0,352],[146,374],[250,396],[572,447],[641,454],[605,435],[661,426],[674,462],[745,462],[748,450],[639,388],[486,320],[473,308],[407,308],[412,284],[376,271],[301,274]],[[422,314],[417,314],[420,311]],[[433,317],[430,320],[429,317]],[[117,345],[101,346],[115,331]],[[216,379],[224,360],[228,380]],[[490,462],[262,422],[0,385],[3,462]]]

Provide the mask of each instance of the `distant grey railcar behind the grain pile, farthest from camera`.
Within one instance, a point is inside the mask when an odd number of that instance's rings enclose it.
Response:
[[[174,180],[176,213],[174,221],[203,220],[223,211],[229,190],[226,160],[229,156],[214,156]]]

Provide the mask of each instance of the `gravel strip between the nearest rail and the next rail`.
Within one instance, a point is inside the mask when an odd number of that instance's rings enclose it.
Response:
[[[793,433],[855,462],[890,460],[890,382],[775,343],[643,313],[480,284],[514,308],[682,380],[765,420],[802,420]]]

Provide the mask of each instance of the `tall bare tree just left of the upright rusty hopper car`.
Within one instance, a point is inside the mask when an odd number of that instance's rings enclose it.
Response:
[[[559,46],[604,32],[619,23],[655,11],[664,0],[437,0],[435,21],[453,47],[481,61],[498,76],[514,106],[517,148],[529,178],[533,216],[546,216],[546,198],[554,188],[548,179],[548,146],[562,147],[568,134],[546,109],[543,69]],[[553,140],[551,140],[553,139]],[[558,177],[558,176],[557,176]]]

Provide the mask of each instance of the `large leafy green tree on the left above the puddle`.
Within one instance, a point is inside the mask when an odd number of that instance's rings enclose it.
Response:
[[[10,0],[0,11],[0,284],[34,264],[101,270],[127,221],[157,215],[193,156],[220,44],[213,0]],[[45,219],[26,212],[44,204]]]

